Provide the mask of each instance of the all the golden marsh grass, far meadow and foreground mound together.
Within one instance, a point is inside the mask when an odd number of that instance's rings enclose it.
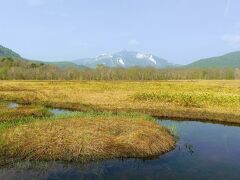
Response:
[[[148,157],[173,149],[175,137],[149,115],[240,124],[240,81],[1,81],[0,100],[22,104],[0,104],[0,154],[30,160]],[[44,107],[83,112],[49,117]]]

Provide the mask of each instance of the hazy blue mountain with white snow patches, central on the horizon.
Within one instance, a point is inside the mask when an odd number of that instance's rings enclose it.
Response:
[[[73,61],[78,65],[84,65],[88,67],[96,67],[99,64],[103,64],[109,67],[158,67],[165,68],[173,66],[167,60],[154,56],[152,54],[145,54],[133,51],[121,51],[114,54],[101,54],[95,58],[85,58]]]

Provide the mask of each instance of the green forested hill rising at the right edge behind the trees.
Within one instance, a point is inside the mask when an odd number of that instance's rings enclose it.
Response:
[[[223,56],[201,59],[193,62],[187,67],[196,68],[239,68],[240,67],[240,51],[225,54]]]

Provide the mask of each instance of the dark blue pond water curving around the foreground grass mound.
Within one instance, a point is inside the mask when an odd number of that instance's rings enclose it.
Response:
[[[0,179],[239,179],[240,128],[195,121],[159,120],[175,127],[177,147],[155,159],[89,164],[21,162]]]

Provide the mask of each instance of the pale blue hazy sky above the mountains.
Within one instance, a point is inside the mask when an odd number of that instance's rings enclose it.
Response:
[[[177,64],[240,50],[239,0],[0,0],[0,44],[28,59],[121,50]]]

